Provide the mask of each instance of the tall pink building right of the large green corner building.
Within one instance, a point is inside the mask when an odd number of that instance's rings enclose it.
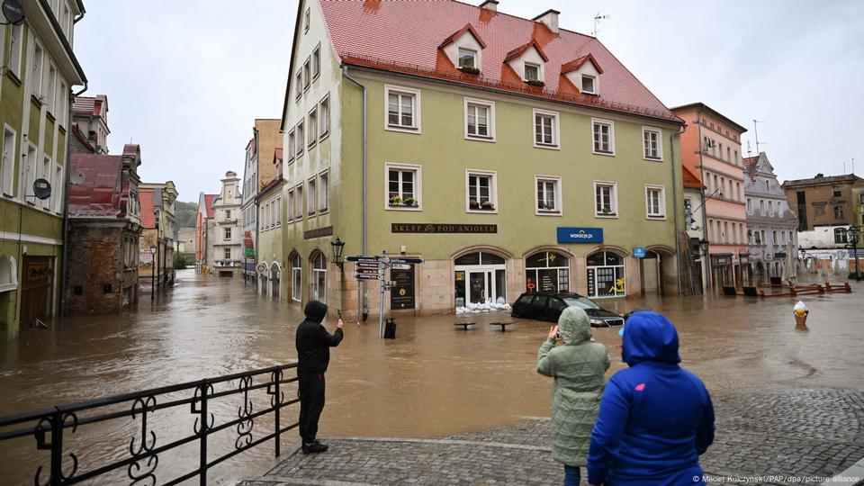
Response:
[[[743,126],[705,103],[690,103],[672,112],[687,122],[681,135],[681,161],[705,186],[702,221],[708,241],[703,275],[711,288],[741,286],[747,268],[747,204],[744,197]]]

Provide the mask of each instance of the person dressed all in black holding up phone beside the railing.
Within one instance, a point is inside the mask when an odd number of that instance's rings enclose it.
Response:
[[[327,316],[327,304],[311,301],[303,311],[306,320],[297,328],[297,382],[300,394],[300,437],[303,454],[319,453],[327,446],[315,440],[318,434],[318,419],[324,410],[324,373],[330,361],[330,347],[342,341],[342,320],[331,336],[321,321]]]

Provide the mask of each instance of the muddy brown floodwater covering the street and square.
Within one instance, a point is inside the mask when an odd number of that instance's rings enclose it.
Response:
[[[793,386],[864,390],[864,284],[853,289],[800,297],[810,309],[806,331],[796,330],[797,300],[787,297],[649,296],[601,303],[619,312],[652,309],[669,316],[679,329],[682,365],[716,396]],[[143,297],[136,311],[67,319],[0,344],[0,415],[281,365],[296,357],[293,335],[302,312],[242,282],[187,270],[178,273],[177,285],[157,305]],[[455,328],[452,315],[401,318],[397,338],[383,341],[377,338],[377,321],[346,323],[345,340],[332,353],[320,436],[441,436],[547,415],[551,381],[536,374],[535,360],[550,325],[519,320],[502,333],[488,325],[493,317],[478,317],[468,331]],[[622,367],[617,330],[594,331],[613,357],[610,373]],[[287,394],[293,398],[293,386]],[[236,418],[241,400],[235,395],[214,403],[217,423]],[[269,404],[266,395],[257,400],[256,410]],[[286,410],[293,421],[296,406]],[[139,421],[114,422],[82,427],[68,439],[67,450],[79,455],[79,473],[128,456]],[[193,416],[188,408],[166,411],[149,424],[164,445],[188,435]],[[257,437],[272,430],[267,420],[255,427]],[[236,433],[224,432],[213,437],[211,460],[234,447]],[[293,431],[289,434],[294,439]],[[160,482],[193,469],[195,447],[160,455]],[[220,465],[211,477],[253,474],[272,455],[272,445],[257,446]],[[0,483],[32,484],[36,467],[47,467],[47,458],[32,439],[0,444]],[[129,482],[125,474],[123,468],[110,482]]]

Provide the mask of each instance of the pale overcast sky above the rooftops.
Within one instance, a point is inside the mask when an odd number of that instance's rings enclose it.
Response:
[[[388,0],[385,0],[388,1]],[[399,1],[399,0],[395,0]],[[420,0],[423,1],[423,0]],[[480,0],[473,0],[479,4]],[[109,146],[141,145],[140,175],[173,180],[181,201],[242,176],[256,118],[280,118],[296,0],[85,0],[75,51],[106,94]],[[599,39],[667,106],[707,103],[743,126],[780,181],[864,173],[864,2],[500,0]]]

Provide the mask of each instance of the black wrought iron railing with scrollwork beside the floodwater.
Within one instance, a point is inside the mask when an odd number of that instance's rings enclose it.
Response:
[[[115,483],[116,478],[113,480],[103,478],[111,473],[117,474],[121,468],[126,468],[126,476],[130,484],[137,485],[156,484],[159,457],[165,457],[166,453],[174,452],[184,445],[194,446],[194,442],[197,441],[197,464],[194,470],[180,473],[167,481],[160,479],[159,484],[177,484],[196,476],[201,484],[206,484],[208,470],[251,447],[274,440],[275,456],[281,454],[281,435],[298,425],[292,420],[291,425],[283,427],[284,417],[281,413],[282,409],[299,401],[299,399],[285,401],[284,393],[285,384],[297,381],[296,377],[285,379],[284,371],[296,366],[296,363],[273,366],[0,417],[0,446],[15,439],[20,442],[26,437],[32,437],[35,443],[33,452],[50,451],[47,457],[49,467],[46,469],[40,465],[36,468],[33,478],[36,486],[88,481]],[[255,410],[250,398],[250,394],[255,392],[269,395],[270,406],[263,410]],[[232,403],[231,409],[236,407],[237,419],[217,424],[211,405],[219,401],[220,408],[226,410],[224,402],[229,401],[229,397],[239,398],[239,401]],[[184,412],[184,407],[189,407],[189,410]],[[156,419],[153,419],[153,416],[163,410],[171,410],[165,412],[166,415],[163,417],[170,415],[175,422],[177,413],[182,414],[189,422],[194,417],[191,433],[184,434],[184,437],[176,438],[166,444],[158,444],[159,438],[154,431],[153,423]],[[253,437],[255,420],[266,416],[269,418],[271,414],[274,423],[273,431],[263,437]],[[130,419],[135,422],[133,437],[128,440],[128,446],[125,443],[114,446],[112,454],[104,458],[100,464],[85,464],[84,460],[79,460],[79,456],[86,455],[87,449],[92,448],[92,445],[82,444],[78,449],[67,445],[70,438],[74,438],[76,433],[80,434],[81,428],[92,426],[95,434],[91,435],[102,437],[104,434],[110,434],[109,431],[122,429],[124,425],[128,426],[128,423],[123,423],[124,419],[127,422]],[[230,428],[234,428],[232,435],[235,436],[234,444],[229,447],[231,450],[211,459],[208,455],[208,438],[223,430],[231,432]],[[173,432],[176,435],[176,430]],[[121,447],[123,457],[112,460]],[[128,454],[126,454],[127,450]],[[7,463],[6,459],[9,458],[4,458],[6,463],[4,469],[12,465],[11,461]],[[181,466],[182,469],[188,467],[192,466],[189,464]]]

